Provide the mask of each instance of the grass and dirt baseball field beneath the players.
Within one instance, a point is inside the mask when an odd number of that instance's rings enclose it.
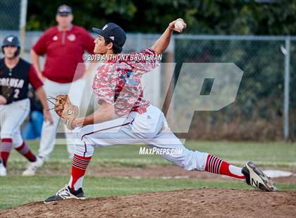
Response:
[[[29,142],[37,151],[38,141]],[[8,177],[0,177],[0,217],[295,217],[296,143],[187,141],[188,148],[219,155],[235,165],[254,160],[283,169],[276,193],[257,191],[239,179],[187,172],[159,155],[139,155],[140,145],[97,148],[85,177],[87,200],[42,201],[68,183],[66,146],[56,146],[35,177],[21,177],[26,161],[15,151]],[[227,212],[226,212],[227,211]]]

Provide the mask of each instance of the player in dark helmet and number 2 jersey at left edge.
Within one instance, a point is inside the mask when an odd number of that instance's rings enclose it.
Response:
[[[28,86],[32,85],[35,94],[42,101],[44,119],[52,123],[48,111],[47,100],[42,81],[35,68],[20,58],[20,41],[11,35],[4,39],[1,46],[4,58],[0,60],[0,176],[6,176],[8,156],[12,147],[25,156],[30,162],[38,164],[39,158],[35,156],[23,141],[20,134],[20,125],[30,111],[30,101],[27,98]],[[23,172],[24,176],[30,172]]]

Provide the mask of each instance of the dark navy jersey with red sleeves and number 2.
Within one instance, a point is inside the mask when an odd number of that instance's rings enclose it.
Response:
[[[29,84],[35,90],[43,85],[32,64],[20,58],[17,65],[9,69],[4,58],[0,60],[0,95],[7,103],[27,98]]]

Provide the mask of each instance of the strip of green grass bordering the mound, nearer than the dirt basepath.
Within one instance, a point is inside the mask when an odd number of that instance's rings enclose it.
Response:
[[[54,195],[68,182],[66,175],[0,178],[0,208],[44,200]],[[28,185],[30,184],[30,185]],[[171,191],[183,188],[244,188],[252,189],[242,181],[214,181],[198,179],[125,179],[87,177],[84,182],[87,197],[129,195],[150,191]],[[279,184],[280,191],[296,191],[295,185]]]

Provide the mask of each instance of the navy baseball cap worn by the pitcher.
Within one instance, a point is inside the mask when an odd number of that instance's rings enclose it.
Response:
[[[106,39],[110,39],[115,48],[119,47],[122,50],[122,47],[125,44],[125,32],[115,23],[107,23],[101,29],[92,27],[92,32],[95,32]]]

